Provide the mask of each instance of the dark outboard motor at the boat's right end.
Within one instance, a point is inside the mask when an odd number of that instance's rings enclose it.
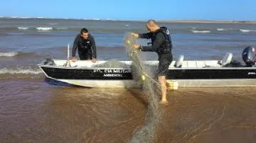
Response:
[[[242,59],[247,67],[252,67],[256,62],[256,48],[249,46],[242,51]]]

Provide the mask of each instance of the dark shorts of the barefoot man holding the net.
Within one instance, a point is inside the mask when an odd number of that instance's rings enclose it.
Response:
[[[156,71],[157,76],[166,76],[172,60],[173,57],[171,54],[161,55],[161,57],[159,57],[159,67]]]

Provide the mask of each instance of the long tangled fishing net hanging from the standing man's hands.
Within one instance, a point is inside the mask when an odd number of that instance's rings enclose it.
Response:
[[[146,118],[144,125],[139,129],[135,130],[130,142],[154,142],[154,130],[159,122],[159,98],[156,94],[155,85],[158,84],[157,81],[152,78],[154,77],[154,72],[152,72],[149,67],[146,68],[144,62],[142,61],[140,51],[134,51],[133,45],[136,44],[137,38],[127,33],[124,36],[124,45],[127,50],[127,55],[132,59],[132,75],[133,78],[140,77],[143,90],[146,94],[149,105],[146,110]],[[138,79],[137,79],[138,80]]]

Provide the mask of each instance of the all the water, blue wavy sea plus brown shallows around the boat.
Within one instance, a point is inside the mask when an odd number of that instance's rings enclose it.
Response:
[[[174,59],[242,62],[256,43],[256,25],[159,23],[171,32]],[[140,89],[79,88],[45,79],[36,64],[66,59],[67,45],[87,28],[100,60],[129,59],[125,33],[146,32],[139,21],[0,18],[0,142],[129,142],[142,126]],[[140,40],[146,45],[149,40]],[[144,59],[157,59],[144,52]],[[189,88],[169,92],[155,142],[254,142],[255,88]]]

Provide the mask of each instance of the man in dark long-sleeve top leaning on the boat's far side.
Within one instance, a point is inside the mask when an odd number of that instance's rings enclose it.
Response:
[[[77,60],[75,57],[76,50],[78,50],[80,59],[90,59],[92,62],[97,61],[95,40],[86,28],[82,28],[80,34],[78,34],[74,40],[71,59],[73,62]]]

